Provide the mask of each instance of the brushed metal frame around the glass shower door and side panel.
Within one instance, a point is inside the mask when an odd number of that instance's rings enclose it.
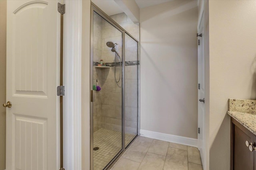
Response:
[[[104,13],[98,6],[96,6],[93,2],[91,2],[91,20],[90,20],[90,90],[92,90],[93,86],[93,15],[96,12],[99,16],[108,21],[111,25],[113,25],[116,29],[122,32],[122,149],[118,154],[108,163],[104,170],[112,167],[114,162],[116,162],[117,158],[124,153],[125,149],[130,146],[130,144],[138,137],[140,134],[140,112],[139,112],[139,88],[138,88],[138,124],[137,124],[137,135],[134,139],[125,147],[125,33],[129,35],[134,41],[137,42],[137,60],[139,59],[139,43],[138,40],[135,39],[128,31],[122,28],[118,23],[116,23],[112,18],[110,18],[106,13]],[[138,64],[139,65],[139,64]],[[137,74],[139,76],[139,66],[137,65]],[[139,78],[137,76],[137,78]],[[139,79],[138,79],[139,81]],[[92,94],[91,94],[92,95]],[[91,96],[92,97],[92,96]],[[93,102],[90,102],[90,170],[93,170]]]

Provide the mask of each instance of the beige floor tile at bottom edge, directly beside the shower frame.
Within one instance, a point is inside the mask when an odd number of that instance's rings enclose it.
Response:
[[[113,170],[138,170],[140,163],[126,159],[120,158],[118,162],[116,162]]]

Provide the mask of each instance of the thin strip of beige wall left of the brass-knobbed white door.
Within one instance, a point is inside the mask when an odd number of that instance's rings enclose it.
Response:
[[[0,170],[5,169],[6,146],[6,0],[0,0]]]

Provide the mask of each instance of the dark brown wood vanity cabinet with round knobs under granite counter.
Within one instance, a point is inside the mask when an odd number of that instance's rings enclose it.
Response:
[[[246,141],[250,148],[246,146]],[[231,118],[230,170],[256,170],[255,144],[256,136]]]

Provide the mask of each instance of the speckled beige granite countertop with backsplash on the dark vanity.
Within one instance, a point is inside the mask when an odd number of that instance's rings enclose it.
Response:
[[[228,100],[228,115],[256,135],[256,100]]]

